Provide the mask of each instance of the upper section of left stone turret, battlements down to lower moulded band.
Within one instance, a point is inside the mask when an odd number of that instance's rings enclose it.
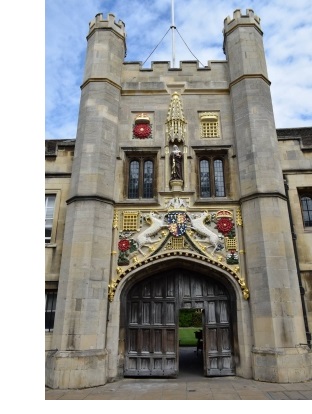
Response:
[[[96,195],[112,201],[124,24],[98,14],[90,23],[71,196]],[[109,47],[108,47],[109,45]]]

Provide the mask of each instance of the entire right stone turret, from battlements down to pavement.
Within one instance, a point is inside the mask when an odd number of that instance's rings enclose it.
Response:
[[[278,23],[277,23],[278,24]],[[260,19],[224,22],[253,322],[254,379],[311,378]]]

